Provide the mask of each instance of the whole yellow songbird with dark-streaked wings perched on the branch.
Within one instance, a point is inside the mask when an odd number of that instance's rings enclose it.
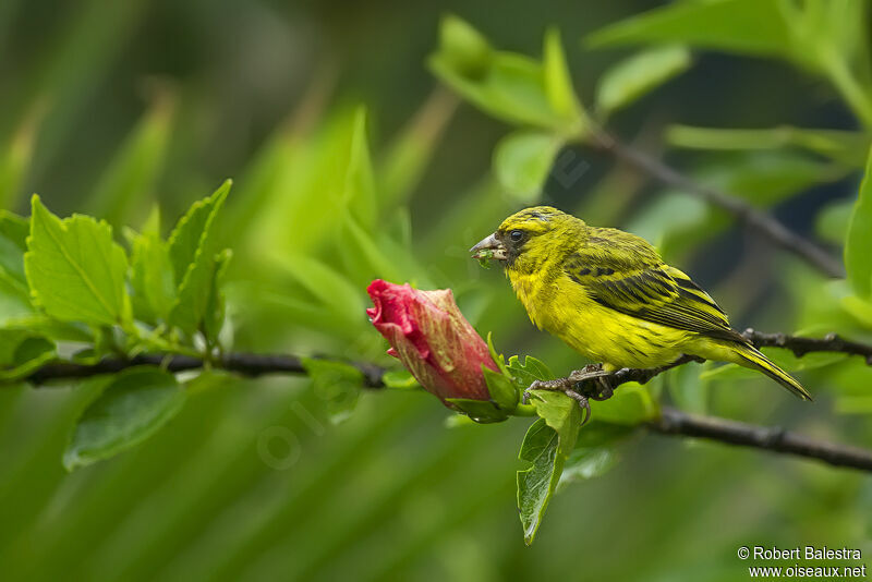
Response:
[[[470,252],[500,260],[533,324],[607,372],[657,367],[688,354],[760,371],[811,400],[730,329],[705,291],[634,234],[536,206],[504,220]]]

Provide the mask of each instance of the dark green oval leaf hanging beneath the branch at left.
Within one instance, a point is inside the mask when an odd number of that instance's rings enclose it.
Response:
[[[64,466],[72,471],[138,445],[175,416],[185,395],[175,377],[162,369],[122,372],[76,421]]]

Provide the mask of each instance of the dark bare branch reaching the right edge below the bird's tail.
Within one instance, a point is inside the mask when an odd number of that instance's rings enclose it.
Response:
[[[872,471],[872,451],[815,440],[779,427],[755,426],[726,419],[698,416],[671,408],[664,408],[661,411],[661,417],[649,423],[647,427],[662,435],[707,438],[727,445],[816,459],[833,466]]]

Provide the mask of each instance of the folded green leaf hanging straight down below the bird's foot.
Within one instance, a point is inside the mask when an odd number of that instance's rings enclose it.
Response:
[[[531,402],[542,417],[530,426],[519,453],[532,466],[517,475],[518,511],[526,545],[535,538],[581,428],[581,412],[574,400],[562,392],[533,392]]]

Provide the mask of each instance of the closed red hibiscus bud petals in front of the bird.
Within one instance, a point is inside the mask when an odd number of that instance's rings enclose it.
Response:
[[[366,290],[366,310],[402,362],[428,392],[446,398],[489,400],[482,365],[499,372],[487,344],[460,313],[450,289],[419,291],[382,279]]]

